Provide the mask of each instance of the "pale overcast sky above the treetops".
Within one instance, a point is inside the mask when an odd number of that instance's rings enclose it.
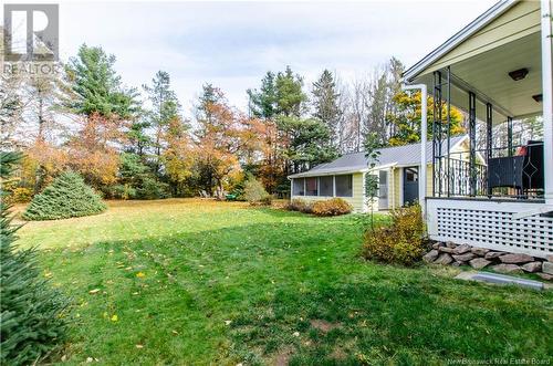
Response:
[[[102,45],[128,86],[167,71],[189,116],[206,82],[244,107],[246,90],[286,65],[310,88],[323,69],[347,81],[393,55],[409,66],[493,3],[62,2],[60,54],[66,60],[82,43]]]

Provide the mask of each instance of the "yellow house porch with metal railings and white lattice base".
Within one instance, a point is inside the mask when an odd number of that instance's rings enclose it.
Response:
[[[551,0],[507,0],[404,73],[406,85],[432,94],[430,108],[445,112],[431,121],[434,179],[422,201],[431,239],[553,254],[552,67]],[[451,106],[469,116],[468,169],[444,164]],[[513,138],[513,121],[531,116],[543,123],[543,136]]]

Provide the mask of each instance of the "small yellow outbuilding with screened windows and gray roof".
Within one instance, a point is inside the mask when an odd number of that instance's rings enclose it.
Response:
[[[450,164],[458,169],[468,169],[469,136],[451,138]],[[427,194],[431,194],[432,143],[426,145]],[[356,212],[367,212],[373,209],[388,210],[401,207],[419,199],[418,179],[420,169],[421,145],[410,144],[380,148],[378,158],[369,161],[365,153],[347,154],[334,161],[321,164],[311,170],[289,176],[292,187],[292,199],[325,200],[340,197],[349,202]],[[479,166],[484,164],[478,154]],[[373,165],[372,168],[369,166]],[[365,194],[365,175],[377,176],[378,192],[371,201]],[[468,190],[467,182],[462,189]],[[461,190],[461,187],[459,187]]]

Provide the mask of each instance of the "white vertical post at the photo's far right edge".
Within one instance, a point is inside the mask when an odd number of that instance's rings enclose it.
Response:
[[[545,203],[553,205],[553,71],[551,1],[542,0],[543,164]]]

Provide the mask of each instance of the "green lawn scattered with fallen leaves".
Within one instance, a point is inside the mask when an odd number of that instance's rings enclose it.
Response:
[[[112,202],[95,217],[30,222],[20,238],[43,249],[44,275],[74,301],[61,353],[70,364],[431,365],[553,355],[551,291],[462,282],[451,268],[364,262],[355,216]]]

